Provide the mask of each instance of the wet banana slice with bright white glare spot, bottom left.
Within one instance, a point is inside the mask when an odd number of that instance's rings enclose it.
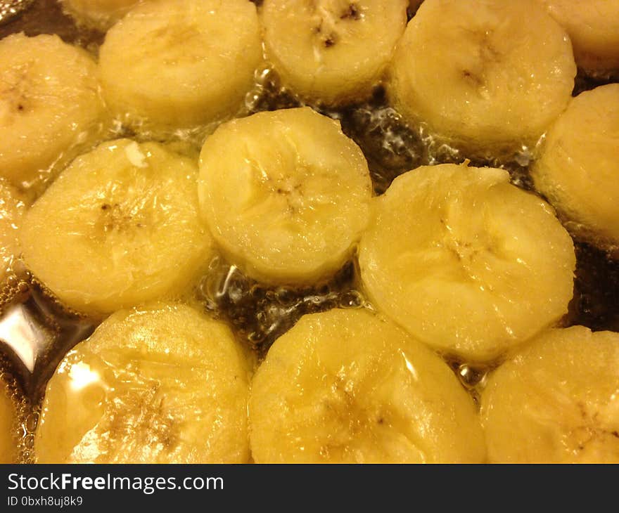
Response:
[[[247,462],[248,368],[226,325],[188,306],[119,311],[47,384],[39,463]]]

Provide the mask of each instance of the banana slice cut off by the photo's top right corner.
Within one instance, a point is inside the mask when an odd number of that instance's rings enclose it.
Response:
[[[540,0],[570,35],[576,63],[594,74],[619,72],[619,2]]]

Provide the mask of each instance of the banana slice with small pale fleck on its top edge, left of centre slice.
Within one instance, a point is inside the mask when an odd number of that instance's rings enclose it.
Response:
[[[74,160],[27,212],[26,266],[87,313],[180,294],[210,248],[197,173],[193,160],[156,143],[103,143]]]

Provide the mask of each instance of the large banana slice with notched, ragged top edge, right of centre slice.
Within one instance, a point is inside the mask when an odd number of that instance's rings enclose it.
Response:
[[[442,164],[374,200],[359,265],[371,301],[411,335],[489,361],[567,313],[575,254],[552,208],[507,171]]]

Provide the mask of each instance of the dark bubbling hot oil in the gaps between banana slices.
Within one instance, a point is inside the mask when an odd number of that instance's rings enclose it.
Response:
[[[58,33],[65,41],[79,44],[95,55],[103,41],[103,34],[76,27],[63,15],[55,0],[35,1],[23,16],[0,25],[0,37],[21,30],[29,35]],[[608,80],[600,82],[579,74],[576,82],[574,94]],[[298,98],[283,89],[276,73],[264,67],[256,74],[255,88],[248,93],[243,115],[300,105],[302,102]],[[376,195],[384,193],[397,176],[421,165],[466,160],[476,166],[502,167],[509,171],[512,183],[532,190],[528,174],[532,148],[521,148],[521,151],[499,157],[465,155],[430,136],[424,126],[407,126],[390,107],[380,86],[366,102],[338,109],[316,105],[314,108],[337,119],[345,134],[362,149]],[[162,142],[174,151],[197,158],[201,134],[210,129],[176,132]],[[132,136],[132,133],[117,124],[113,136]],[[34,194],[42,190],[39,184]],[[589,245],[577,243],[575,246],[575,297],[563,325],[619,330],[619,261],[609,259],[604,252]],[[18,411],[16,436],[20,462],[32,462],[34,429],[46,382],[65,353],[88,337],[100,320],[66,309],[20,268],[19,262],[13,271],[0,293],[0,339],[4,340],[0,342],[0,377],[9,382]],[[274,340],[305,313],[336,307],[371,308],[358,284],[358,270],[352,262],[326,283],[295,289],[257,283],[223,257],[215,257],[208,272],[199,280],[193,300],[205,311],[226,320],[238,339],[254,351],[257,358],[262,358]],[[488,372],[498,364],[473,365],[449,356],[445,356],[445,361],[476,402]]]

